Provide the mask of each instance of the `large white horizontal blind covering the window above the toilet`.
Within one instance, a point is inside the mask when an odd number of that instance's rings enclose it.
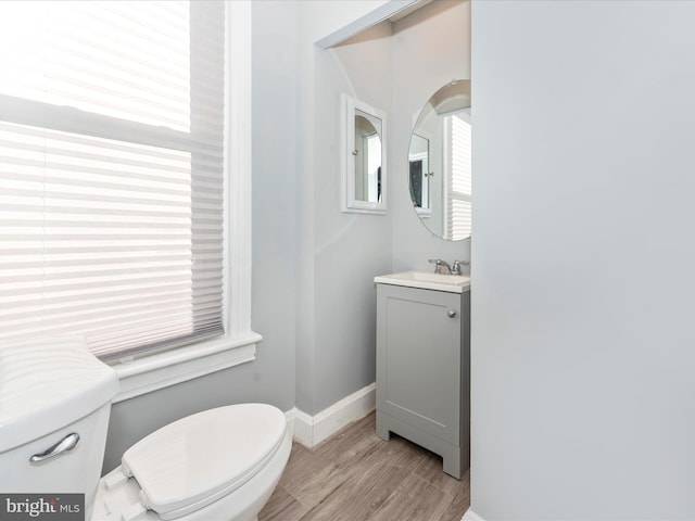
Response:
[[[224,2],[0,2],[0,339],[223,331]]]

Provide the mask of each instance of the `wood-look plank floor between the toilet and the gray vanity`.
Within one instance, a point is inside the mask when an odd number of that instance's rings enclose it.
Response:
[[[308,449],[294,443],[258,521],[459,521],[470,505],[439,456],[375,434],[375,414]]]

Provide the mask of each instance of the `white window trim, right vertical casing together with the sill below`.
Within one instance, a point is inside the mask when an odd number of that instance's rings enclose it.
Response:
[[[225,237],[223,336],[109,364],[121,382],[114,403],[255,359],[251,329],[251,1],[226,2]]]

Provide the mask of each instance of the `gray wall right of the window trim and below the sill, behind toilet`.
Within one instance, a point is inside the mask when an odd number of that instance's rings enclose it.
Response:
[[[296,7],[253,4],[252,328],[256,360],[115,404],[104,471],[155,429],[211,407],[266,402],[294,406],[296,281]]]

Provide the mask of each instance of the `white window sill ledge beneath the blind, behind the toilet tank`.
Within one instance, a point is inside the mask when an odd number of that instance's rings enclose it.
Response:
[[[113,403],[252,361],[256,357],[256,344],[261,340],[258,333],[251,331],[131,361],[115,361],[113,368],[118,374],[121,389]]]

